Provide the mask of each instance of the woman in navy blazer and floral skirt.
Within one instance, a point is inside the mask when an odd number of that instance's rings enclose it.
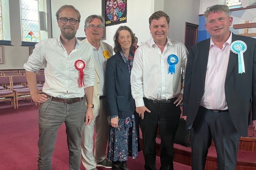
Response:
[[[106,65],[105,88],[110,121],[108,159],[112,170],[128,170],[128,156],[138,155],[138,137],[134,118],[135,102],[131,95],[130,73],[133,63],[134,34],[121,26],[114,35],[114,52]]]

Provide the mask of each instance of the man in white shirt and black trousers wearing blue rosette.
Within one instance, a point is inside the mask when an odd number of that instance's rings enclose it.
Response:
[[[131,71],[131,90],[136,111],[141,117],[145,170],[156,166],[158,122],[161,136],[161,169],[172,170],[174,136],[178,128],[182,102],[181,68],[185,70],[188,50],[167,38],[170,17],[158,11],[149,17],[153,39],[136,50]],[[183,73],[183,77],[185,72]]]

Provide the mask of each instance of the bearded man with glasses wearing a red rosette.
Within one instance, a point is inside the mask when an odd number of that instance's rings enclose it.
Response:
[[[81,164],[81,130],[93,120],[93,48],[76,38],[80,13],[64,5],[56,13],[61,35],[35,45],[26,69],[31,97],[39,108],[38,169],[51,170],[51,156],[59,127],[65,122],[70,170]],[[44,94],[38,94],[35,72],[45,66]],[[85,95],[86,94],[86,95]],[[87,101],[87,110],[84,103]]]

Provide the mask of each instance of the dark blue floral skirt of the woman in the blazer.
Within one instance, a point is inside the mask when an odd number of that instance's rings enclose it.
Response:
[[[130,117],[130,122],[127,122],[127,118],[119,118],[118,128],[110,127],[108,160],[126,161],[128,156],[134,159],[137,155],[138,137],[134,116]]]

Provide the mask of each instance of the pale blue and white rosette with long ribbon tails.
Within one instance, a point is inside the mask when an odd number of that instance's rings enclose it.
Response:
[[[245,73],[243,53],[247,50],[247,45],[244,41],[237,40],[231,43],[230,50],[238,54],[238,73]]]

